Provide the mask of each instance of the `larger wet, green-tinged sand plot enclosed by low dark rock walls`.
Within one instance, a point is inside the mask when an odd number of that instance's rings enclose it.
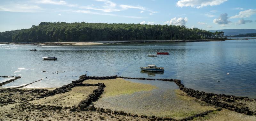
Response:
[[[111,110],[124,110],[124,112],[131,114],[173,117],[175,119],[193,116],[207,110],[216,110],[216,108],[209,106],[205,102],[187,96],[186,93],[177,89],[178,86],[176,86],[174,82],[166,82],[172,85],[170,88],[168,88],[169,86],[166,87],[159,84],[154,85],[158,86],[157,88],[151,88],[149,84],[144,84],[142,81],[140,81],[142,83],[130,82],[121,78],[84,81],[84,83],[92,84],[98,82],[104,83],[106,85],[106,89],[102,98],[93,103],[96,107],[103,107]],[[151,83],[152,82],[153,81],[151,81]],[[157,83],[159,81],[154,82]],[[133,88],[131,89],[130,85],[127,83],[133,85]],[[145,90],[147,88],[148,90]],[[142,90],[138,91],[136,89]],[[134,93],[123,93],[131,92],[132,90]]]

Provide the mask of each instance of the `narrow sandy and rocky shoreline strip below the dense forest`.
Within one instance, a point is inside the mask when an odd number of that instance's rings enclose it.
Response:
[[[248,38],[250,39],[250,38]],[[101,45],[101,44],[119,44],[119,43],[145,43],[145,42],[206,42],[206,41],[225,41],[237,39],[189,39],[189,40],[120,40],[120,41],[91,41],[91,42],[3,42],[0,44],[30,44],[30,45],[60,45],[60,46],[82,46],[82,45]]]

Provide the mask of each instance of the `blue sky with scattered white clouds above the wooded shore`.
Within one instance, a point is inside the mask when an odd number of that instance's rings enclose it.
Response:
[[[0,32],[41,22],[256,29],[256,0],[1,0]]]

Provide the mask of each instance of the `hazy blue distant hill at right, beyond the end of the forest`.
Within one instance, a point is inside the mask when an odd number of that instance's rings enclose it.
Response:
[[[221,29],[221,30],[210,30],[210,32],[216,32],[216,31],[223,31],[223,32],[225,32],[224,36],[256,33],[256,29]]]

